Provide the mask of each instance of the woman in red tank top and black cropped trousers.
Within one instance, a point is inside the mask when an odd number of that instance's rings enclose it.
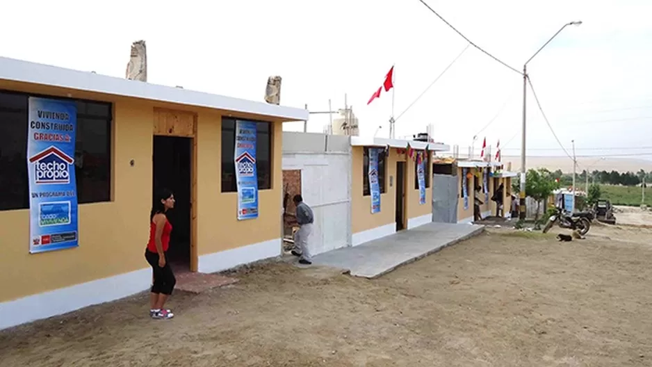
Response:
[[[161,190],[154,197],[152,213],[149,214],[149,242],[145,250],[145,259],[152,266],[154,282],[149,295],[149,316],[152,318],[173,318],[174,313],[163,309],[165,301],[172,294],[177,279],[168,263],[168,247],[172,225],[165,213],[174,208],[174,195],[170,190]]]

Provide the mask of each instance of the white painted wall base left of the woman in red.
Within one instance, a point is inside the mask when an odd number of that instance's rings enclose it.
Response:
[[[145,291],[151,284],[152,270],[145,268],[2,302],[0,329],[118,300]]]

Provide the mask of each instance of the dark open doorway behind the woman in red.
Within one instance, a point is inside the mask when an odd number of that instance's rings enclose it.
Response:
[[[152,155],[153,193],[169,188],[176,199],[174,209],[168,212],[172,225],[168,250],[170,264],[186,271],[190,268],[192,142],[190,138],[154,136]]]

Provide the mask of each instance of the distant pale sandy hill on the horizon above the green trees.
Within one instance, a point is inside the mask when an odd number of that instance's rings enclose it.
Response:
[[[512,162],[512,171],[518,172],[521,168],[521,157],[519,156],[503,156],[503,162]],[[543,156],[528,156],[528,161],[525,162],[529,168],[548,168],[548,170],[562,170],[564,173],[573,172],[573,161],[568,157],[543,157]],[[591,167],[589,170],[598,171],[612,171],[618,172],[638,172],[641,168],[646,172],[652,171],[652,161],[645,161],[643,159],[635,158],[605,158],[601,161],[599,158],[578,158],[578,172],[585,170],[587,166]]]

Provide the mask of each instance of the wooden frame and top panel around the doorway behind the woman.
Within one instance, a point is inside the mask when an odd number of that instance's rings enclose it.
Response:
[[[166,127],[162,129],[158,114],[168,115],[192,115],[191,129],[174,129]],[[177,120],[177,122],[179,122]],[[172,136],[176,138],[190,139],[190,271],[197,272],[199,267],[199,254],[197,253],[197,113],[188,111],[176,111],[168,108],[154,108],[154,127],[152,131],[152,142],[154,136]],[[152,161],[154,159],[154,145],[152,144]],[[152,166],[153,169],[153,166]]]

